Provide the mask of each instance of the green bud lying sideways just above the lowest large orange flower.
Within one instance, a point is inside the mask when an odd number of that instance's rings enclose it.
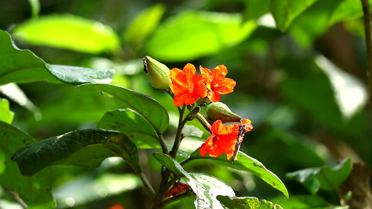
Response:
[[[213,102],[207,107],[207,116],[212,121],[220,120],[222,123],[240,122],[241,116],[233,113],[228,105],[222,102]]]

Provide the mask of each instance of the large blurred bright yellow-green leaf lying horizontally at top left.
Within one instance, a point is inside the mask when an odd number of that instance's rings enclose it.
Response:
[[[13,30],[15,38],[77,52],[99,54],[119,49],[117,34],[110,26],[74,15],[50,15],[23,22]]]

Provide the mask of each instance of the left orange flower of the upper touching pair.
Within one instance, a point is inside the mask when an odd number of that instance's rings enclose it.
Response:
[[[193,104],[198,98],[207,96],[207,89],[203,84],[205,77],[196,75],[195,66],[191,63],[187,63],[184,70],[170,70],[170,79],[170,89],[175,94],[173,103],[176,107]]]

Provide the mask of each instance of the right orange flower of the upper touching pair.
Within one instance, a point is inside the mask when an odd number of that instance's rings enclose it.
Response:
[[[200,72],[202,72],[202,75],[207,76],[208,98],[211,102],[218,102],[221,94],[228,94],[234,91],[236,83],[233,79],[225,77],[228,74],[228,69],[225,65],[218,65],[213,69],[213,72],[200,66]]]

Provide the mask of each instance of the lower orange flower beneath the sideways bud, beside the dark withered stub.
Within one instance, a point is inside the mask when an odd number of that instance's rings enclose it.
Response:
[[[243,124],[246,132],[252,130],[251,121],[244,119]],[[229,160],[234,154],[235,144],[237,144],[239,124],[224,126],[221,121],[216,121],[209,130],[211,131],[211,135],[200,147],[200,155],[205,156],[209,153],[211,157],[218,157],[226,153]]]

